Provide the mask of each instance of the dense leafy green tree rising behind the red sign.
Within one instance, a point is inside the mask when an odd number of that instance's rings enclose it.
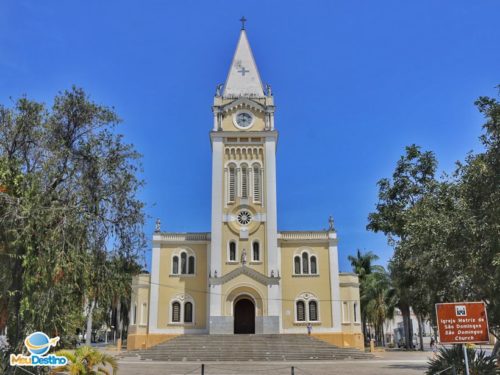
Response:
[[[392,179],[378,183],[367,228],[388,236],[393,285],[417,316],[435,323],[435,303],[484,301],[500,337],[500,103],[475,104],[486,119],[482,152],[437,179],[433,153],[407,147]]]

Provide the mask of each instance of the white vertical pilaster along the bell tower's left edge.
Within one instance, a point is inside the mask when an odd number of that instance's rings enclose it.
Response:
[[[212,236],[210,250],[210,272],[221,275],[222,270],[222,171],[223,140],[214,137],[212,140]],[[220,286],[210,288],[210,316],[221,315]]]

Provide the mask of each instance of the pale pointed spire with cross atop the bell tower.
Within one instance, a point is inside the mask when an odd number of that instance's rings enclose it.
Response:
[[[240,21],[242,23],[240,38],[224,85],[223,96],[263,97],[262,81],[245,31],[245,17]]]

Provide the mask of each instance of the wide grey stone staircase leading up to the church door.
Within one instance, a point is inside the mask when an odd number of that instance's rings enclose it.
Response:
[[[307,335],[181,335],[150,349],[127,353],[153,361],[310,361],[370,359]]]

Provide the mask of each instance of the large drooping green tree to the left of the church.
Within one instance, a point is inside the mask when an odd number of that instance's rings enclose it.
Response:
[[[50,108],[0,105],[0,307],[14,349],[34,330],[71,342],[84,303],[108,302],[137,272],[140,155],[119,122],[74,87]]]

